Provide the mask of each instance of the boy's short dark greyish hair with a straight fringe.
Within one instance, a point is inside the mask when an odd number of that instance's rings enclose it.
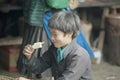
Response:
[[[48,22],[49,28],[57,29],[62,32],[73,32],[72,38],[80,32],[80,19],[76,13],[59,11],[53,14]]]

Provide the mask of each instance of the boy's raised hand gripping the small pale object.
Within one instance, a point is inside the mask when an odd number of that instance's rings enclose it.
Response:
[[[34,49],[32,47],[32,45],[28,44],[25,46],[24,50],[23,50],[23,54],[28,58],[30,59],[32,54],[34,52]]]

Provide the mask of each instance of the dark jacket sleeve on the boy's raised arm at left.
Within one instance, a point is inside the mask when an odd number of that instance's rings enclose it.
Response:
[[[38,74],[42,73],[51,66],[50,52],[46,51],[42,57],[32,57],[28,63],[28,71]]]

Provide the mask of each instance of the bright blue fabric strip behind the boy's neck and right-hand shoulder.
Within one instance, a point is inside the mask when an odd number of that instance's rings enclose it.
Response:
[[[80,34],[77,36],[77,42],[78,44],[80,44],[84,49],[86,49],[89,53],[90,58],[94,57],[93,51],[90,48],[88,42],[86,41],[84,35],[82,32],[80,32]]]

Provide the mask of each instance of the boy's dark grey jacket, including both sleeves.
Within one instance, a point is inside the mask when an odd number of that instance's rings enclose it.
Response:
[[[31,66],[30,70],[34,73],[42,73],[51,67],[55,80],[92,80],[90,57],[87,51],[77,44],[76,39],[68,45],[63,54],[64,59],[59,63],[56,50],[57,48],[52,45],[41,58],[32,57],[28,64]]]

